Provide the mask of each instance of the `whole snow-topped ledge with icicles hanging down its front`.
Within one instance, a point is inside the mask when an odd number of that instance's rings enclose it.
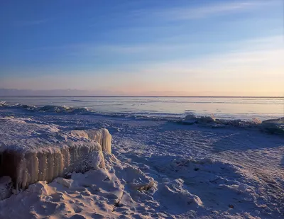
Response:
[[[90,139],[59,128],[31,118],[0,118],[0,176],[10,176],[18,191],[36,181],[104,167],[102,152],[111,153],[108,130],[81,131]]]

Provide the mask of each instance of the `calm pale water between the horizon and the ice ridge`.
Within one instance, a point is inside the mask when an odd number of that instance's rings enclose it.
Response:
[[[1,96],[8,104],[69,106],[135,116],[197,116],[266,120],[284,116],[284,97]]]

